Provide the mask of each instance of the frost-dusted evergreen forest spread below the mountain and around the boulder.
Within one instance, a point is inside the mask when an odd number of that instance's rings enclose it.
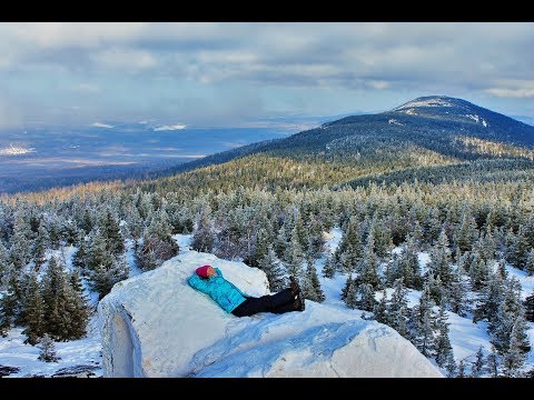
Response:
[[[82,282],[106,296],[128,278],[127,240],[142,270],[178,253],[172,234],[192,234],[195,250],[265,271],[271,291],[296,276],[307,299],[323,301],[323,276],[347,274],[342,298],[396,329],[417,349],[462,376],[522,376],[534,321],[534,293],[524,301],[508,263],[534,274],[534,187],[530,181],[411,183],[333,190],[216,191],[169,189],[161,181],[121,190],[58,190],[4,198],[0,204],[0,333],[24,327],[28,342],[86,334],[93,310]],[[65,193],[69,193],[66,196]],[[325,232],[338,227],[330,253]],[[50,250],[73,246],[72,270]],[[394,249],[399,251],[393,251]],[[419,267],[417,253],[429,262]],[[386,289],[393,290],[386,296]],[[407,307],[408,289],[422,291]],[[456,364],[447,313],[485,322],[493,351]],[[532,373],[532,372],[531,372]]]

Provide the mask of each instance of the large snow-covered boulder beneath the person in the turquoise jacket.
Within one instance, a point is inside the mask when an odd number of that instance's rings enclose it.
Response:
[[[99,303],[103,377],[443,377],[395,330],[312,301],[236,318],[187,283],[201,264],[251,296],[265,273],[187,251],[117,283]]]

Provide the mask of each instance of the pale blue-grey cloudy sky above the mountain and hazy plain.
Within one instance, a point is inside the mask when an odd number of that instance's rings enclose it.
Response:
[[[0,127],[238,126],[445,94],[534,116],[534,23],[0,22]]]

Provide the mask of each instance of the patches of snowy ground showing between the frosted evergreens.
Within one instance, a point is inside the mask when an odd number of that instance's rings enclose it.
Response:
[[[180,246],[180,257],[190,252],[189,242],[191,236],[176,234],[175,240]],[[332,232],[326,234],[327,249],[334,251],[339,244],[342,238],[342,231],[335,228]],[[394,251],[398,251],[395,249]],[[58,256],[61,251],[55,251]],[[68,268],[72,268],[71,258],[76,252],[75,247],[63,248],[62,253]],[[419,253],[419,263],[424,269],[428,262],[428,253]],[[127,261],[130,264],[130,277],[140,274],[141,271],[135,266],[135,257],[132,243],[127,242]],[[316,268],[319,277],[322,289],[325,293],[326,300],[324,304],[335,306],[344,311],[347,310],[346,306],[340,299],[342,289],[346,282],[346,276],[343,273],[336,273],[333,279],[324,278],[322,269],[325,258],[316,261]],[[523,288],[523,297],[530,296],[534,291],[534,277],[527,277],[525,272],[507,266],[507,271],[511,276],[518,279]],[[231,278],[231,277],[229,277]],[[393,290],[386,290],[386,296],[390,296]],[[96,306],[96,293],[87,292],[90,296],[90,302]],[[377,293],[379,296],[379,293]],[[408,290],[408,307],[413,307],[418,302],[421,292]],[[360,310],[353,310],[355,313],[360,314]],[[485,351],[491,349],[490,337],[485,330],[485,323],[473,323],[471,318],[462,318],[453,312],[448,312],[449,324],[449,338],[453,346],[453,351],[456,361],[464,359],[467,362],[473,360],[474,354],[482,346]],[[527,334],[531,341],[531,346],[534,348],[534,323],[530,323],[531,329]],[[88,327],[88,334],[86,338],[71,341],[71,342],[57,342],[56,349],[58,356],[61,358],[58,362],[43,362],[37,358],[39,356],[39,349],[30,344],[24,344],[24,336],[21,333],[21,328],[16,328],[9,331],[8,337],[0,338],[0,373],[1,367],[17,367],[20,368],[19,372],[9,374],[10,378],[30,377],[30,376],[44,376],[50,377],[63,368],[71,368],[76,366],[89,366],[88,370],[91,370],[93,377],[102,376],[101,367],[101,341],[99,321],[97,317],[92,317]],[[527,359],[527,369],[534,366],[534,350],[531,351]]]

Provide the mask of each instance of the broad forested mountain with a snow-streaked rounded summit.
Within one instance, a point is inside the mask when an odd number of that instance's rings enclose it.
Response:
[[[345,117],[286,138],[216,153],[168,172],[192,173],[214,166],[201,172],[202,179],[217,176],[221,186],[221,176],[246,166],[247,177],[258,174],[264,186],[297,181],[358,186],[415,177],[513,179],[534,172],[533,159],[534,127],[462,99],[432,96],[386,112]],[[286,182],[280,173],[277,179],[268,177],[266,164],[286,168]],[[239,179],[233,177],[231,184],[238,186]]]

